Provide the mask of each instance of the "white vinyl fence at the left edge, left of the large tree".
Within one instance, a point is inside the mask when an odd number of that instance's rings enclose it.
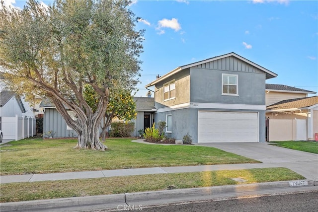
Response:
[[[36,135],[36,119],[18,117],[1,117],[3,139],[21,140]]]

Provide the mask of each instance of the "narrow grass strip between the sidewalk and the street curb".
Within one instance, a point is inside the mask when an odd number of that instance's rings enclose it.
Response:
[[[231,179],[238,177],[247,180],[243,184],[305,179],[287,168],[262,168],[9,183],[1,184],[0,202],[158,191],[172,185],[182,189],[242,184]]]

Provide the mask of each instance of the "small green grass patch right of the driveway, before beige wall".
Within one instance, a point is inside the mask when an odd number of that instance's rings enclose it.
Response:
[[[316,141],[271,141],[272,145],[318,154]]]

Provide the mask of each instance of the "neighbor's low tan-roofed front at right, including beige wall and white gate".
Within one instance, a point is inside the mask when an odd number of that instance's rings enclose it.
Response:
[[[269,141],[315,140],[318,133],[318,96],[269,105],[266,117],[270,121]]]

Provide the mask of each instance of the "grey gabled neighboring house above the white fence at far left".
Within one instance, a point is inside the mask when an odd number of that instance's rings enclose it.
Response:
[[[2,90],[0,92],[0,116],[1,117],[22,117],[25,113],[25,108],[20,97],[14,92]]]

